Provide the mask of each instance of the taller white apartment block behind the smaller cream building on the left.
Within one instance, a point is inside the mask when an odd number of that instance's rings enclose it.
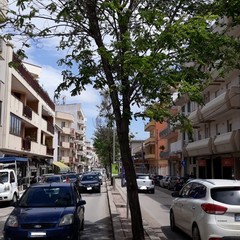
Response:
[[[74,104],[58,104],[56,112],[70,114],[72,116],[71,123],[71,145],[74,146],[71,150],[70,162],[74,165],[74,170],[83,172],[87,166],[86,154],[86,118],[80,103]],[[60,123],[60,127],[62,123]],[[68,125],[70,126],[70,125]],[[70,136],[69,136],[70,139]],[[67,154],[67,153],[66,153]],[[64,161],[65,162],[65,161]],[[67,163],[67,161],[66,161]],[[73,166],[72,166],[73,167]]]

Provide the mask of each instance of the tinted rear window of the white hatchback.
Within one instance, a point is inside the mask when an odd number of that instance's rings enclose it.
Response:
[[[240,205],[240,187],[221,187],[211,189],[213,200],[230,204]]]

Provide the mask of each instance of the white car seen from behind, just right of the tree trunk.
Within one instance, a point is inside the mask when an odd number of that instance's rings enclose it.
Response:
[[[137,173],[138,191],[155,193],[154,181],[149,174]]]

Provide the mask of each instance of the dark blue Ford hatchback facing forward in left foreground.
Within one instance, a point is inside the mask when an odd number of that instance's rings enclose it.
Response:
[[[78,240],[85,204],[74,183],[34,184],[14,204],[4,239]]]

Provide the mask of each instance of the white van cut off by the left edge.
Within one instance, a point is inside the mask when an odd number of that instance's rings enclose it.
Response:
[[[17,176],[13,169],[0,170],[0,203],[16,202],[19,198]]]

